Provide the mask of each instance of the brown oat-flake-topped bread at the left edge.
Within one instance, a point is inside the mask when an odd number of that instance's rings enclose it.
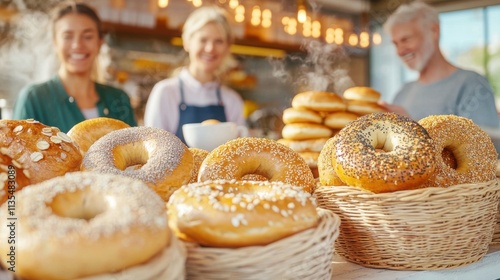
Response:
[[[18,191],[80,169],[80,150],[64,132],[35,120],[0,120],[0,203],[9,194],[9,175]]]

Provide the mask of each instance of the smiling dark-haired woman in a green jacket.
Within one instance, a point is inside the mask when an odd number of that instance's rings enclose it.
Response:
[[[101,21],[89,6],[62,2],[52,14],[53,44],[61,66],[52,79],[21,90],[14,119],[36,119],[67,132],[96,117],[137,125],[127,94],[92,79],[94,61],[103,43]]]

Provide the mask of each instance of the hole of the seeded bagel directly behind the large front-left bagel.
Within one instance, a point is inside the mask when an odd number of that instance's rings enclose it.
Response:
[[[156,144],[149,141],[137,141],[126,145],[117,146],[113,149],[116,167],[120,170],[140,169],[149,160],[150,151]]]

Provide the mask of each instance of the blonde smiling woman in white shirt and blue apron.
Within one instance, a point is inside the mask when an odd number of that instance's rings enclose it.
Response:
[[[189,64],[153,87],[144,124],[175,133],[182,141],[186,123],[216,119],[244,125],[242,98],[220,83],[233,41],[224,10],[204,6],[192,12],[184,23],[182,39]]]

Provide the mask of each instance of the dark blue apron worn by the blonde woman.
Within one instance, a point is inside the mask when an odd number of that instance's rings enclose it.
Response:
[[[220,87],[217,87],[217,105],[208,105],[204,107],[187,105],[184,101],[184,86],[182,80],[179,78],[179,91],[181,93],[181,103],[179,104],[179,124],[175,135],[179,137],[182,142],[184,135],[182,133],[182,126],[187,123],[200,123],[204,120],[215,119],[220,122],[226,121],[226,113],[224,112],[224,104],[220,96]]]

